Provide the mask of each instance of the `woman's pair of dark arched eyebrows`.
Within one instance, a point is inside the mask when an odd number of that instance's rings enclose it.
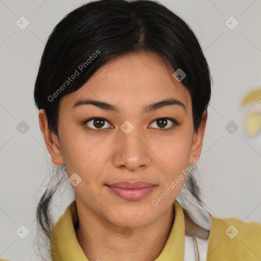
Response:
[[[103,109],[103,110],[112,111],[112,112],[115,112],[115,113],[120,112],[120,109],[119,109],[118,106],[112,105],[112,104],[105,102],[105,101],[99,101],[99,100],[94,100],[94,99],[79,100],[73,105],[73,108],[83,106],[83,105],[94,105],[94,106],[96,106],[100,109]],[[180,100],[177,100],[175,98],[171,98],[171,99],[166,99],[166,100],[161,100],[161,101],[158,101],[158,102],[155,102],[155,103],[151,103],[150,105],[143,107],[142,113],[149,113],[149,112],[152,112],[152,111],[159,110],[163,107],[173,106],[173,105],[180,106],[181,108],[183,108],[187,112],[186,106],[183,102],[181,102]]]

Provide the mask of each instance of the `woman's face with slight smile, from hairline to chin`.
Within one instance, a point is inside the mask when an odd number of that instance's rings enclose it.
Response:
[[[186,176],[175,180],[199,157],[205,124],[194,133],[190,93],[173,72],[151,53],[111,60],[61,99],[53,143],[39,114],[51,159],[82,179],[72,186],[77,207],[118,227],[140,227],[173,205]],[[176,102],[153,106],[170,99]]]

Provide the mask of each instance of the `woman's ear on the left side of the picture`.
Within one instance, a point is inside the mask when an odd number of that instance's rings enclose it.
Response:
[[[45,110],[41,109],[38,116],[40,129],[43,134],[45,146],[51,155],[51,161],[56,165],[64,165],[59,139],[48,127]]]

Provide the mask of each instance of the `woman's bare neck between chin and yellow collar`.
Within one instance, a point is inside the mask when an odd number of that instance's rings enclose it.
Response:
[[[77,202],[76,202],[77,204]],[[174,222],[174,205],[157,220],[140,228],[115,227],[77,206],[77,240],[89,260],[155,260],[162,252]],[[128,233],[129,232],[129,233]]]

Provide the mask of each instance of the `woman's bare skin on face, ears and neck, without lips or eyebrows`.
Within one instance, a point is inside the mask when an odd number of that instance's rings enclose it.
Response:
[[[80,223],[75,232],[89,260],[150,261],[166,244],[175,215],[173,201],[185,178],[157,206],[151,202],[199,158],[207,118],[204,112],[194,132],[190,93],[173,72],[152,53],[111,60],[79,90],[61,99],[59,139],[49,130],[45,111],[39,112],[52,162],[65,165],[68,177],[76,172],[82,178],[72,186]],[[172,105],[142,113],[144,106],[170,97],[183,102],[186,110]],[[106,101],[120,112],[93,105],[73,109],[84,98]],[[108,121],[100,125],[103,131],[88,129],[98,128],[93,121],[83,123],[92,117]],[[173,118],[179,125],[167,130],[174,123],[168,121],[164,127],[157,124],[157,118]],[[129,134],[120,128],[126,120],[134,126]],[[156,187],[140,200],[125,200],[105,186],[123,180],[143,180]],[[126,226],[133,232],[130,237],[121,232]]]

